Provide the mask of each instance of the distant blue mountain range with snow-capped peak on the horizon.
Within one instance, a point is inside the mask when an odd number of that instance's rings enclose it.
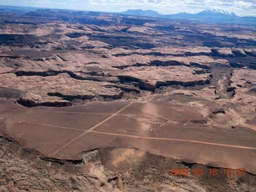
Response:
[[[154,10],[126,10],[125,12],[121,12],[119,14],[130,14],[154,18],[186,19],[202,22],[254,22],[256,24],[256,17],[239,17],[233,12],[219,9],[203,10],[198,14],[159,14]]]

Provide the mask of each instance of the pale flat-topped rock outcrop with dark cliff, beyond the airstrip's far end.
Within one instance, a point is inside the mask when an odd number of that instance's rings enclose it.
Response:
[[[198,72],[200,71],[200,72]],[[198,86],[210,83],[211,74],[187,66],[130,67],[118,78],[142,90],[153,91],[160,86]]]

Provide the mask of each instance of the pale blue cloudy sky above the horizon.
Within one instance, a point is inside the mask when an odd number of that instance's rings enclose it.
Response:
[[[256,0],[0,0],[0,5],[104,12],[142,9],[160,14],[196,14],[206,9],[221,9],[239,16],[256,16]]]

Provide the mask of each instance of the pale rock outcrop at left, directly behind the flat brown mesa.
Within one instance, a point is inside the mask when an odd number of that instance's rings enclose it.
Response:
[[[12,82],[6,79],[12,78]],[[92,98],[122,98],[122,89],[111,86],[109,82],[77,80],[69,74],[50,76],[16,76],[3,74],[0,76],[1,86],[10,86],[26,92],[18,99],[24,106],[70,106],[73,99],[90,100]]]

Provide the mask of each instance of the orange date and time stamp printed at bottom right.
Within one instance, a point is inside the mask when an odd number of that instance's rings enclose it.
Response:
[[[213,175],[217,176],[218,174],[223,174],[223,175],[231,175],[232,171],[235,172],[238,176],[242,176],[246,174],[246,168],[238,168],[235,170],[232,170],[231,168],[223,168],[223,169],[217,169],[217,168],[208,168],[208,170],[205,169],[199,169],[199,168],[194,168],[194,169],[189,169],[189,168],[170,168],[170,175]]]

